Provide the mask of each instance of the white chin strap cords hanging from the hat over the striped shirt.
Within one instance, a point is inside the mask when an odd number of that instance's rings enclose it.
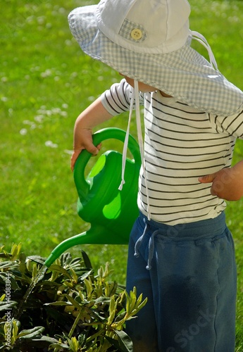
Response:
[[[133,111],[133,106],[134,106],[134,100],[135,100],[135,111],[136,111],[136,124],[137,124],[137,139],[138,139],[138,144],[139,144],[139,150],[140,150],[140,155],[141,155],[141,160],[142,160],[142,169],[143,169],[143,174],[144,174],[144,182],[145,182],[145,189],[146,189],[146,194],[147,194],[147,214],[148,214],[148,220],[151,219],[151,213],[150,213],[150,206],[149,206],[149,192],[148,192],[148,186],[147,186],[147,175],[146,175],[146,166],[145,166],[145,160],[144,160],[144,141],[142,138],[142,126],[141,126],[141,117],[140,117],[140,104],[139,104],[139,88],[138,88],[138,82],[137,80],[134,80],[134,89],[132,89],[132,99],[130,102],[130,113],[129,113],[129,118],[128,118],[128,124],[127,124],[127,132],[125,135],[125,141],[124,141],[124,146],[123,146],[123,165],[122,165],[122,180],[120,182],[120,186],[118,189],[121,191],[123,189],[123,184],[125,184],[125,161],[127,157],[127,146],[128,146],[128,138],[129,138],[129,133],[130,133],[130,122],[132,118],[132,111]]]

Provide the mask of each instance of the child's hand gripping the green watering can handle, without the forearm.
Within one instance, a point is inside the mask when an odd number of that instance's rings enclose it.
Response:
[[[92,130],[90,128],[80,129],[78,138],[76,138],[78,142],[76,142],[73,147],[73,155],[71,156],[71,169],[74,169],[75,162],[77,157],[80,155],[83,149],[87,149],[89,153],[92,153],[93,156],[96,156],[101,149],[101,144],[98,146],[94,146],[92,139]]]

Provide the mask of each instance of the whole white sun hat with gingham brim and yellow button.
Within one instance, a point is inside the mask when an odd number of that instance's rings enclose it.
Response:
[[[101,0],[75,8],[70,30],[81,49],[119,73],[216,115],[242,109],[243,92],[218,71],[206,39],[189,29],[187,0]],[[192,49],[206,46],[210,61]]]

